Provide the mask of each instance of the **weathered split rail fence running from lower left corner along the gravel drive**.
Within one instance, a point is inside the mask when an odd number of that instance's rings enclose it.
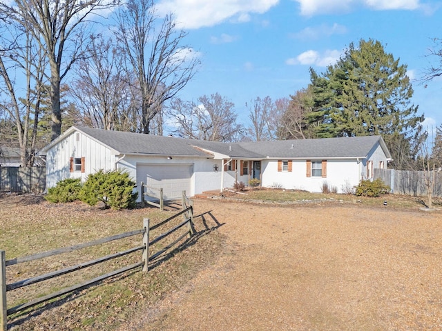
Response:
[[[75,290],[81,290],[89,285],[92,285],[93,283],[98,283],[99,281],[103,281],[104,279],[108,279],[111,277],[115,277],[118,274],[122,274],[124,272],[127,272],[129,270],[133,270],[139,267],[142,267],[143,272],[148,272],[148,262],[153,261],[157,258],[159,258],[164,252],[167,250],[173,248],[177,243],[179,243],[182,239],[185,237],[191,237],[193,234],[193,205],[191,201],[187,197],[185,197],[185,194],[183,194],[183,209],[180,212],[177,212],[172,217],[169,217],[168,219],[165,219],[164,221],[157,223],[153,226],[150,226],[150,220],[144,219],[143,221],[143,228],[140,230],[134,230],[131,232],[124,232],[122,234],[116,234],[111,237],[106,237],[102,239],[98,239],[95,241],[90,241],[88,243],[80,243],[77,245],[73,245],[66,248],[59,248],[56,250],[50,250],[48,252],[42,252],[38,254],[32,254],[28,255],[26,257],[19,257],[16,259],[6,260],[6,252],[4,250],[0,250],[0,331],[6,331],[7,330],[7,321],[8,316],[11,314],[15,314],[16,312],[20,312],[23,310],[26,310],[28,308],[31,308],[35,305],[38,305],[39,303],[44,303],[46,301],[49,301],[50,299],[55,299],[57,297],[61,297],[64,294],[68,294],[70,292],[74,292]],[[159,228],[162,225],[166,225],[166,223],[169,223],[176,217],[179,217],[180,215],[183,215],[184,220],[179,223],[178,225],[175,225],[170,230],[158,235],[155,239],[152,241],[149,241],[149,232],[152,230],[155,230],[156,228]],[[149,256],[149,246],[154,245],[155,243],[158,243],[159,241],[162,241],[166,237],[169,237],[169,235],[173,234],[177,230],[180,230],[182,228],[186,228],[186,231],[183,234],[180,234],[177,239],[175,239],[172,243],[169,243],[166,245],[162,250],[159,252],[156,252],[155,254]],[[117,252],[115,254],[110,254],[104,257],[100,257],[99,259],[87,261],[78,265],[73,265],[68,268],[64,268],[62,270],[57,270],[54,272],[49,272],[47,274],[42,274],[37,277],[32,277],[30,279],[23,279],[21,281],[17,281],[15,283],[6,283],[6,272],[7,268],[10,265],[16,265],[18,263],[24,263],[29,261],[35,261],[37,259],[43,259],[45,257],[52,257],[57,254],[62,254],[66,252],[73,252],[75,250],[80,250],[82,248],[88,248],[94,245],[100,245],[103,243],[108,243],[109,241],[115,241],[118,239],[124,239],[128,237],[135,236],[137,234],[143,234],[142,238],[142,244],[135,246],[133,248],[130,248],[128,250],[124,250],[122,252]],[[99,263],[103,263],[105,261],[109,261],[111,259],[116,259],[117,257],[123,257],[127,254],[131,254],[133,252],[142,251],[142,261],[138,263],[134,263],[131,265],[126,265],[124,268],[120,268],[119,270],[115,270],[112,272],[108,272],[107,274],[102,274],[99,277],[96,277],[94,279],[90,279],[88,281],[84,281],[83,283],[78,283],[76,285],[70,286],[68,288],[64,288],[62,290],[59,290],[57,292],[53,292],[51,294],[48,294],[44,297],[39,297],[37,299],[28,301],[27,303],[22,303],[21,305],[17,305],[12,308],[7,308],[7,295],[6,293],[12,290],[16,290],[18,288],[23,288],[28,285],[32,285],[35,283],[39,283],[41,281],[46,281],[48,279],[52,279],[55,277],[60,277],[61,275],[68,274],[70,272],[75,272],[77,270],[81,270],[86,267],[90,267],[92,265],[97,265]]]

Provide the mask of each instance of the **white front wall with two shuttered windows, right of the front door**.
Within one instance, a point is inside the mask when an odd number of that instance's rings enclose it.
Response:
[[[311,161],[322,161],[311,159]],[[307,177],[306,160],[292,160],[291,172],[278,172],[278,160],[262,161],[262,185],[281,187],[287,190],[321,192],[323,183],[342,192],[343,185],[357,185],[359,165],[356,160],[327,160],[327,177]]]

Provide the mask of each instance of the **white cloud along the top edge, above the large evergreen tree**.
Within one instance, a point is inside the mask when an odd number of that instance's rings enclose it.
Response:
[[[294,0],[300,4],[301,14],[329,14],[349,12],[358,6],[372,10],[416,10],[425,9],[420,0]]]

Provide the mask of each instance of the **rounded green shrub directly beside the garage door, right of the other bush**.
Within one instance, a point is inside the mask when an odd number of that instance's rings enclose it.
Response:
[[[101,201],[106,208],[116,210],[134,208],[138,192],[133,193],[133,188],[135,181],[129,178],[127,172],[99,170],[88,176],[79,197],[89,205]]]

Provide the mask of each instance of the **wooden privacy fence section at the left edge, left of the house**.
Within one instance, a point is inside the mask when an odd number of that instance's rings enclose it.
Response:
[[[46,189],[45,167],[1,167],[0,191],[41,193]]]

